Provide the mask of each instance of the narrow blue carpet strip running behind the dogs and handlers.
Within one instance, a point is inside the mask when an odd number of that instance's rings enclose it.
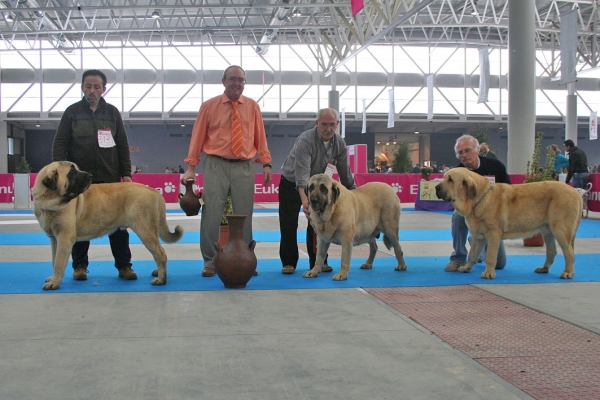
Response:
[[[173,229],[174,224],[170,224]],[[450,228],[450,227],[448,227]],[[279,242],[281,235],[279,231],[254,231],[254,240],[257,242]],[[298,242],[306,242],[306,231],[298,231]],[[578,239],[597,239],[600,238],[600,221],[584,219],[577,230]],[[452,240],[450,229],[422,229],[422,230],[400,230],[400,241],[421,241],[421,240]],[[183,238],[177,243],[199,243],[200,232],[185,232]],[[108,244],[108,236],[103,236],[92,240],[94,244]],[[142,242],[135,233],[131,233],[131,244],[141,244]],[[0,246],[19,246],[19,245],[42,245],[50,244],[50,240],[45,233],[0,233]]]

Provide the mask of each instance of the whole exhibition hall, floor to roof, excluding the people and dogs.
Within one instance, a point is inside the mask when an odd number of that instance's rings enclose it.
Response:
[[[560,246],[553,268],[535,273],[546,248],[521,238],[504,241],[506,267],[482,279],[485,262],[470,273],[444,271],[455,250],[454,207],[417,204],[434,182],[378,173],[403,144],[413,165],[456,166],[464,134],[483,135],[515,185],[538,132],[540,165],[548,146],[565,154],[563,142],[573,140],[589,169],[598,166],[598,5],[0,1],[0,398],[598,398],[600,186],[582,198],[591,206],[573,240],[572,279],[561,278]],[[165,174],[186,168],[199,109],[223,93],[232,65],[243,68],[243,95],[260,107],[277,177],[263,187],[256,163],[258,275],[243,289],[201,275],[202,210],[186,216],[180,175]],[[92,240],[86,281],[73,280],[69,261],[62,286],[42,289],[54,253],[28,190],[52,162],[59,122],[82,99],[90,69],[106,74],[103,97],[121,113],[132,170],[145,175],[134,181],[159,182],[146,184],[166,200],[170,230],[184,230],[179,242],[163,243],[164,286],[150,284],[154,258],[130,230],[137,280],[117,277],[103,237]],[[305,278],[310,221],[299,210],[300,260],[282,274],[281,167],[323,108],[338,111],[348,146],[366,147],[358,186],[385,182],[401,200],[406,271],[394,270],[394,250],[378,237],[372,269],[361,266],[368,244],[358,244],[347,280],[333,280],[344,253],[334,243],[333,273]],[[31,180],[17,204],[24,161]]]

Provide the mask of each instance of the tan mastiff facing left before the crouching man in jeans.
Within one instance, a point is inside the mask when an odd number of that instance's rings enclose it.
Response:
[[[582,203],[571,186],[556,181],[492,185],[486,177],[467,168],[453,168],[435,190],[440,199],[451,202],[456,212],[465,217],[474,239],[467,263],[459,271],[470,272],[487,243],[481,277],[494,279],[500,240],[541,232],[546,242],[546,261],[535,272],[550,270],[558,241],[565,257],[565,270],[560,277],[575,275],[575,233],[581,222]]]

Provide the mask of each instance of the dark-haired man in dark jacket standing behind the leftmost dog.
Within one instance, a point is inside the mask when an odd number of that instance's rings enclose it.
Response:
[[[106,75],[88,70],[81,79],[83,99],[64,112],[54,143],[52,161],[71,161],[93,175],[92,183],[131,182],[131,156],[123,119],[116,107],[108,104]],[[132,280],[129,233],[119,229],[108,236],[119,278]],[[86,280],[89,241],[76,242],[71,251],[73,279]]]

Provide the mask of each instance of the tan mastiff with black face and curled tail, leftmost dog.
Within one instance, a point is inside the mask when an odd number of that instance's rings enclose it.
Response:
[[[131,228],[152,253],[158,268],[153,285],[167,283],[167,254],[158,240],[181,239],[183,228],[171,233],[165,201],[156,190],[132,182],[91,185],[92,174],[68,161],[42,168],[33,185],[33,212],[50,238],[52,276],[44,290],[58,289],[76,241]]]

